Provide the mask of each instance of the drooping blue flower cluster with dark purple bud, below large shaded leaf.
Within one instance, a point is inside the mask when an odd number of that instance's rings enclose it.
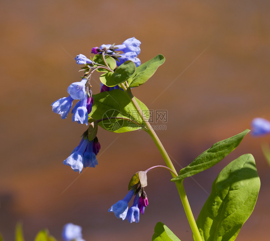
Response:
[[[95,165],[98,165],[96,155],[100,150],[100,143],[97,137],[94,140],[89,142],[88,138],[84,139],[82,137],[79,145],[63,161],[63,164],[70,166],[73,171],[79,171],[79,173],[81,173],[83,167],[95,167]]]

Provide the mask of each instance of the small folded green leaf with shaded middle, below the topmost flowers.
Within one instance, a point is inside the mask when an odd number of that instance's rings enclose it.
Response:
[[[125,82],[136,70],[136,65],[131,60],[121,64],[113,73],[108,72],[100,76],[100,81],[106,86],[113,87]]]

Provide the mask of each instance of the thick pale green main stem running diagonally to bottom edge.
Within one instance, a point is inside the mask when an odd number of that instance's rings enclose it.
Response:
[[[161,141],[159,140],[159,137],[154,132],[152,126],[149,123],[149,121],[144,116],[143,111],[141,110],[141,108],[139,107],[136,99],[132,95],[132,92],[131,92],[130,88],[126,87],[123,83],[120,84],[120,86],[127,93],[128,97],[129,97],[130,101],[132,102],[133,106],[135,107],[135,109],[137,109],[137,111],[138,111],[139,115],[141,116],[145,126],[147,127],[145,129],[145,131],[148,132],[150,137],[153,139],[154,143],[156,144],[157,148],[159,149],[159,152],[161,153],[163,159],[165,160],[166,165],[172,170],[172,171],[170,171],[172,177],[176,177],[175,173],[177,173],[177,172],[176,172],[176,169],[175,169],[174,165],[172,164],[172,162],[170,160],[169,155],[167,154],[165,148],[163,147]],[[185,189],[184,189],[184,186],[183,186],[183,181],[176,182],[176,188],[177,188],[179,196],[181,198],[181,201],[182,201],[185,213],[186,213],[187,220],[189,222],[192,233],[194,235],[194,240],[195,241],[202,241],[202,237],[201,237],[201,235],[199,233],[198,227],[196,225],[196,221],[194,219],[194,216],[192,214],[192,210],[190,208],[190,205],[189,205],[187,197],[186,197],[186,192],[185,192]]]

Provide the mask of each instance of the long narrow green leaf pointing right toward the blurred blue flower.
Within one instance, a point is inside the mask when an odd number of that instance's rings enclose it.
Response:
[[[240,144],[249,131],[246,129],[233,137],[213,144],[211,148],[200,154],[191,164],[181,169],[179,175],[171,179],[171,182],[181,181],[216,165]]]

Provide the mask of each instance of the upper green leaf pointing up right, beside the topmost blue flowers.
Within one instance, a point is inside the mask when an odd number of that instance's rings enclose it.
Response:
[[[127,80],[129,87],[138,87],[148,81],[148,79],[154,75],[158,67],[164,62],[165,57],[162,54],[159,54],[153,59],[138,66],[135,74]]]

